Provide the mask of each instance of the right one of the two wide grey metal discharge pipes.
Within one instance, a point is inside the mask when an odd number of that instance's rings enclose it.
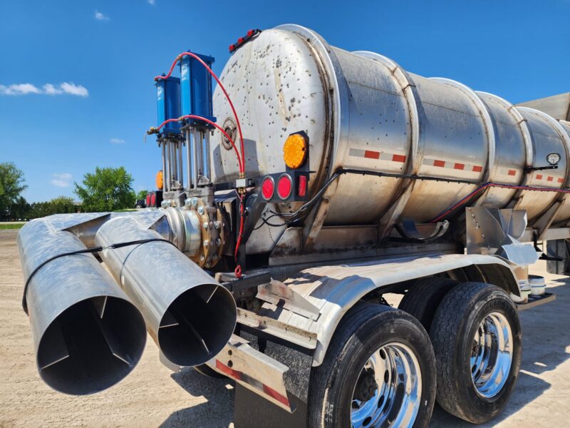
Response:
[[[136,216],[109,220],[95,243],[149,239],[157,241],[103,250],[101,258],[142,312],[165,357],[180,366],[204,364],[234,332],[237,309],[231,293]]]

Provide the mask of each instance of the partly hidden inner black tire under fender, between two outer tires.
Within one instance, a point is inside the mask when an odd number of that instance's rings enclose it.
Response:
[[[451,278],[422,278],[410,287],[398,309],[415,317],[429,332],[437,307],[447,292],[457,284],[459,282]]]

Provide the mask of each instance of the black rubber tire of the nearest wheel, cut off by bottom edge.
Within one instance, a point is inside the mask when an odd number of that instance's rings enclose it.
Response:
[[[418,360],[422,391],[413,427],[427,427],[435,402],[435,357],[420,322],[401,310],[363,303],[341,320],[323,363],[311,372],[309,427],[351,426],[351,400],[368,358],[390,342],[406,345]]]

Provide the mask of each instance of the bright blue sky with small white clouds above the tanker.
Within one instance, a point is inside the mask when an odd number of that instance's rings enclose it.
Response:
[[[513,103],[570,91],[570,0],[0,0],[0,17],[0,162],[24,170],[29,201],[73,195],[95,166],[152,188],[152,77],[186,49],[221,72],[250,28],[301,24]]]

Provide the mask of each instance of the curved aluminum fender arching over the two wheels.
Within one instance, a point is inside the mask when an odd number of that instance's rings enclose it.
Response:
[[[317,320],[311,320],[287,310],[275,313],[280,312],[277,317],[280,322],[316,333],[313,365],[318,366],[323,362],[338,322],[346,311],[369,292],[397,282],[470,265],[498,267],[493,272],[498,270],[500,273],[495,272],[492,276],[500,277],[509,290],[518,290],[512,265],[502,258],[479,254],[434,254],[428,257],[392,258],[302,270],[297,277],[286,280],[285,284],[318,307],[321,316]],[[269,310],[269,305],[265,304],[264,309]]]

